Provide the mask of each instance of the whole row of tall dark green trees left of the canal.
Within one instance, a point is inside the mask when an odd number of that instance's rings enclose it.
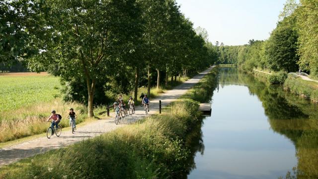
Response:
[[[4,0],[0,24],[0,62],[19,59],[60,76],[90,117],[96,94],[134,89],[137,98],[139,86],[150,93],[154,82],[160,88],[217,58],[205,29],[196,33],[175,0]]]

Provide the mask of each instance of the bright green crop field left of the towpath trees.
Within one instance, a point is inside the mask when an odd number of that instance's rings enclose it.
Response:
[[[59,78],[45,76],[0,76],[0,113],[48,102],[59,95]]]

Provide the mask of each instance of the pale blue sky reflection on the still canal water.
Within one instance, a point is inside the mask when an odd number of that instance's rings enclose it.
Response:
[[[270,129],[261,101],[245,86],[215,91],[204,120],[204,155],[189,179],[277,179],[297,165],[295,147]]]

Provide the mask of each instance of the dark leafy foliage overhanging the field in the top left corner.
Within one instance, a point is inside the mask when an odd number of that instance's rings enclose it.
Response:
[[[39,52],[31,40],[32,36],[42,38],[43,35],[39,11],[39,3],[31,0],[0,1],[0,62],[4,66]]]

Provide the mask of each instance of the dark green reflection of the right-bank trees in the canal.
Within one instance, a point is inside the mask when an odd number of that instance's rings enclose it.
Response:
[[[317,179],[318,105],[284,91],[281,86],[265,84],[235,68],[222,68],[219,72],[221,87],[227,84],[247,86],[250,94],[256,95],[262,102],[272,130],[293,141],[298,159],[295,177]],[[288,173],[284,178],[292,179],[292,176]]]

